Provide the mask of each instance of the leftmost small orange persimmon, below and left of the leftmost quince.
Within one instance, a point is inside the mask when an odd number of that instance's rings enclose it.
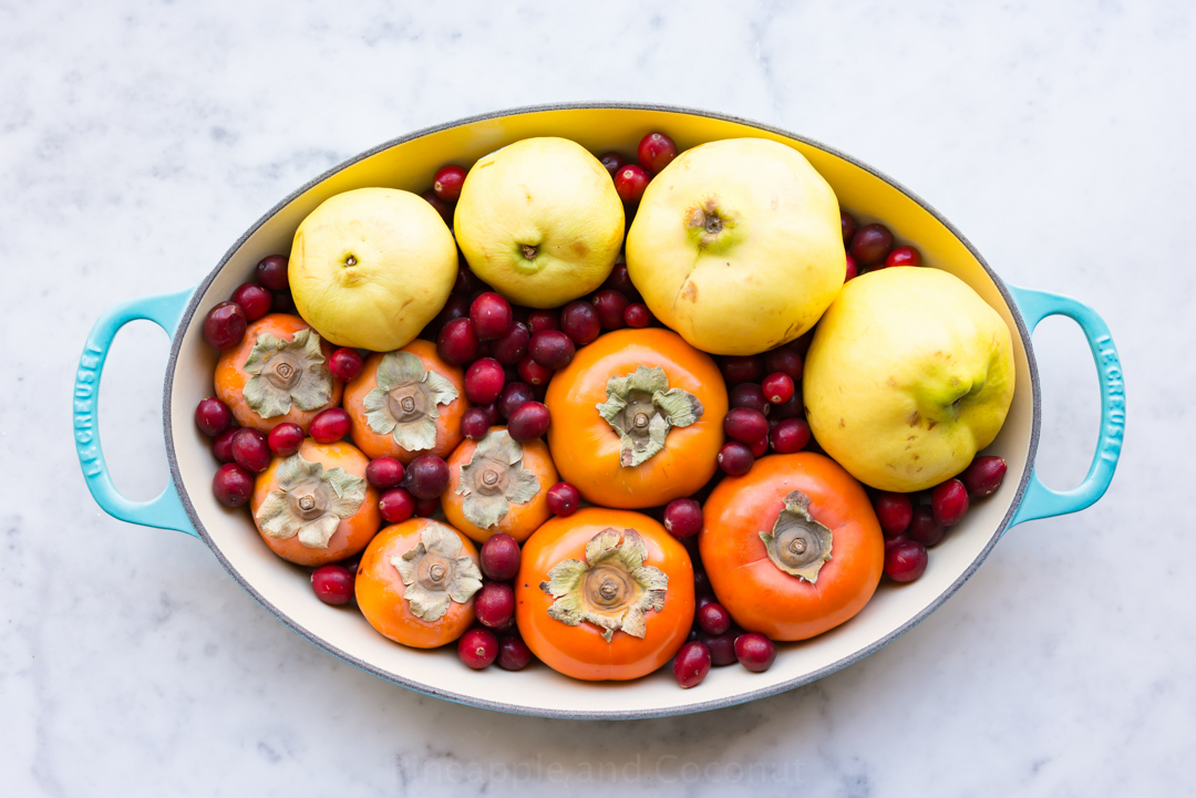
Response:
[[[304,346],[306,338],[295,340],[295,334],[304,330],[310,330],[306,334],[319,342],[318,350]],[[258,346],[262,336],[270,338]],[[242,426],[269,432],[291,422],[306,432],[311,419],[322,410],[341,404],[344,386],[328,370],[332,350],[334,346],[299,317],[269,313],[250,323],[236,349],[220,354],[214,377],[216,395],[228,405]],[[266,415],[250,406],[251,399]],[[309,409],[303,410],[303,405]]]

